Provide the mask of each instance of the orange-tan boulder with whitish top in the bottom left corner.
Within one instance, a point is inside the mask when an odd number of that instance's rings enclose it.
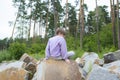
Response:
[[[28,80],[28,72],[22,68],[23,62],[16,61],[0,65],[0,80]]]

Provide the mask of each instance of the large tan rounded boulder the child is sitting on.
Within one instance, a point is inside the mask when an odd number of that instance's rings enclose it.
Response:
[[[74,61],[49,59],[38,65],[33,80],[81,80],[81,74]]]

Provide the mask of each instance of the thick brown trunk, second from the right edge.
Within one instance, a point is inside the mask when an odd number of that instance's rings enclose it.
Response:
[[[113,45],[116,47],[116,27],[115,27],[114,0],[110,0],[110,6],[111,6],[111,16],[112,16]]]

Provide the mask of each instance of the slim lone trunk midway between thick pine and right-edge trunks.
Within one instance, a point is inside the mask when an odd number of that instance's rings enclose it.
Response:
[[[97,46],[98,46],[98,52],[100,52],[100,35],[99,35],[99,22],[98,22],[98,5],[96,0],[96,26],[97,26]]]

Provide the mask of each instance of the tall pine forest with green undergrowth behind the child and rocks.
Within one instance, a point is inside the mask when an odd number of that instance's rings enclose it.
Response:
[[[75,0],[75,6],[69,0],[62,6],[61,1],[13,0],[17,14],[10,22],[11,37],[0,40],[0,62],[19,59],[24,53],[44,58],[47,41],[58,27],[66,30],[68,51],[76,53],[73,59],[86,51],[102,58],[105,53],[120,49],[119,0],[110,0],[110,11],[106,5],[98,6],[97,0],[93,11],[88,11],[84,0]]]

